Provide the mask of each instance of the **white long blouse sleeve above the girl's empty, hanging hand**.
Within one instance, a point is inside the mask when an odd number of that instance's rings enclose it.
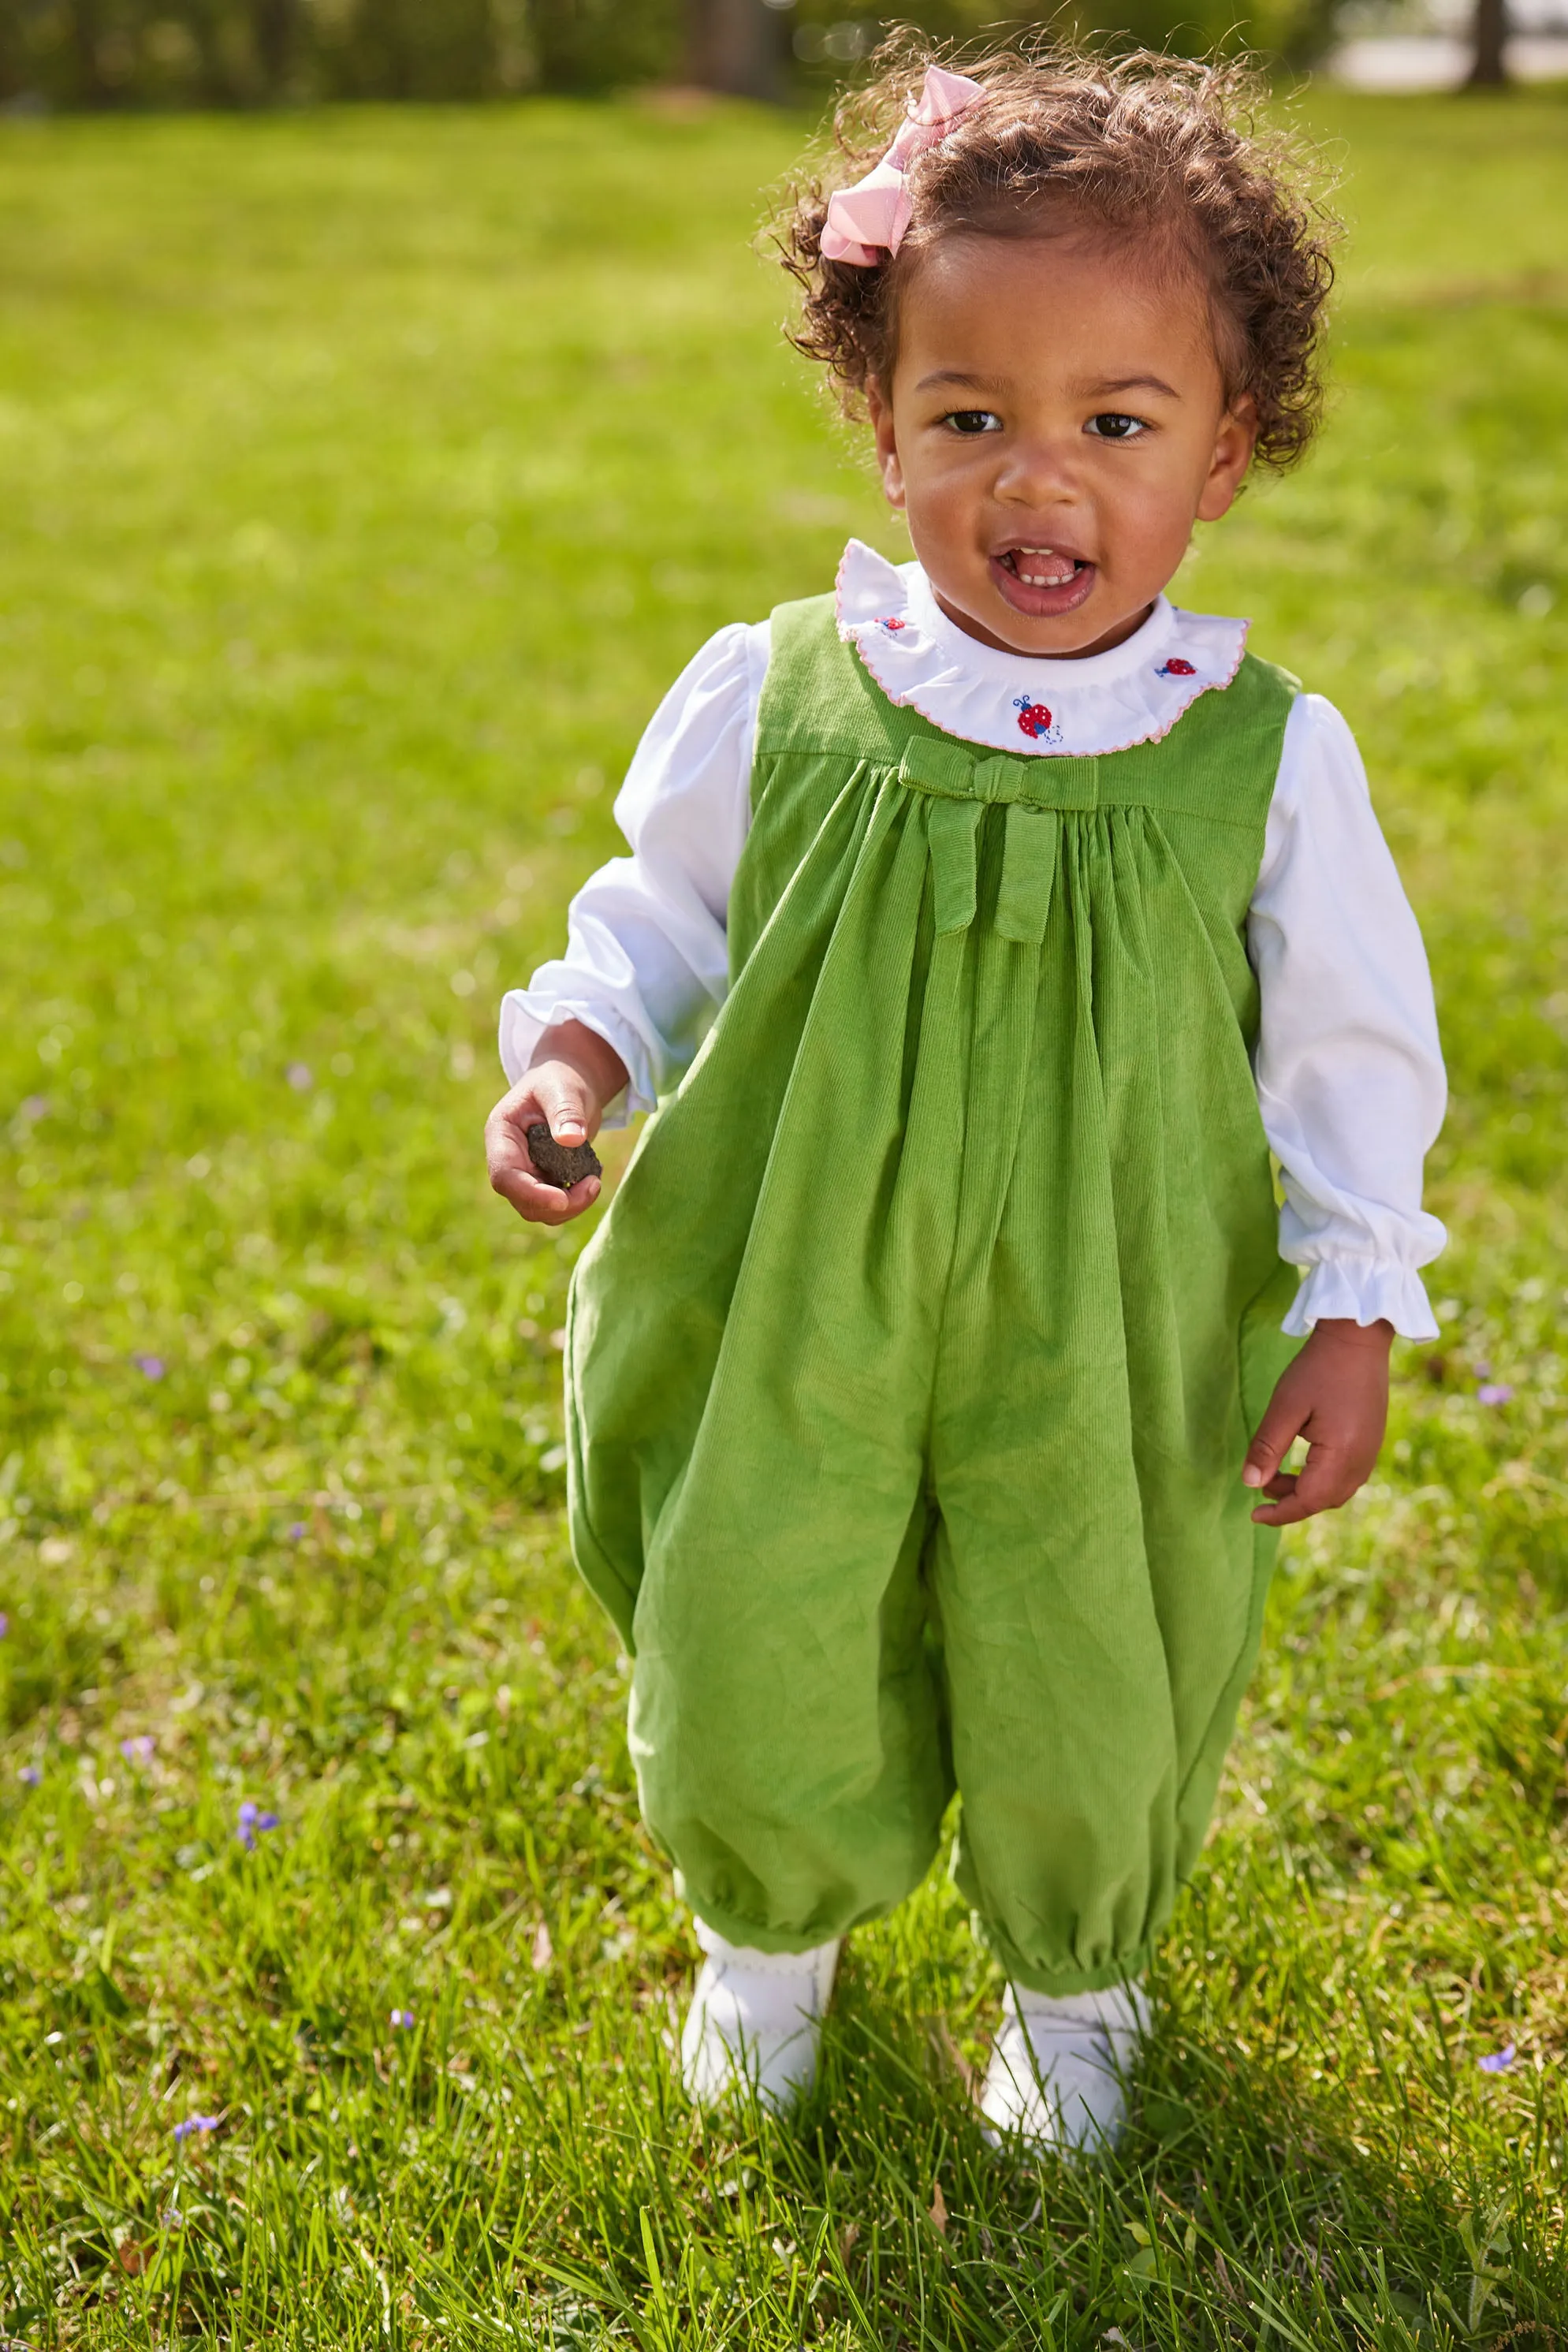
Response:
[[[1446,1103],[1432,978],[1361,753],[1321,694],[1286,724],[1248,953],[1279,1251],[1307,1270],[1286,1331],[1342,1315],[1436,1338],[1418,1272],[1446,1242],[1420,1204]]]

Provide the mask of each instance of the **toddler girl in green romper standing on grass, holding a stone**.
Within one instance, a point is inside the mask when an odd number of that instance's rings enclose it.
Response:
[[[914,61],[844,115],[797,341],[914,562],[851,541],[703,647],[632,856],[503,1007],[522,1216],[597,1195],[531,1124],[658,1105],[571,1289],[569,1503],[705,1952],[696,2098],[811,2079],[957,1792],[990,2126],[1114,2136],[1274,1531],[1361,1486],[1389,1338],[1434,1336],[1443,1073],[1356,746],[1164,595],[1316,421],[1324,230],[1239,87]]]

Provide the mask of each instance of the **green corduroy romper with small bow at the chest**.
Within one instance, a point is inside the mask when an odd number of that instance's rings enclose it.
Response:
[[[1119,1983],[1192,1870],[1293,1341],[1246,910],[1293,682],[999,757],[773,614],[731,990],[583,1251],[576,1557],[696,1912],[802,1950],[957,1879]]]

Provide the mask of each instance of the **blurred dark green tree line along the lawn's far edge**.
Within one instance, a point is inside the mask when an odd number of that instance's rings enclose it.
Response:
[[[1497,0],[1483,0],[1497,5]],[[1081,0],[1067,16],[1133,42],[1248,42],[1309,64],[1338,0]],[[689,80],[778,99],[827,92],[886,24],[976,35],[994,0],[0,0],[12,108],[310,106],[484,99]],[[1020,19],[1023,24],[1046,21]]]

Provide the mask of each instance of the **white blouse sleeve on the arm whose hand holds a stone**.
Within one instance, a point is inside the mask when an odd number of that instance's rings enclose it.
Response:
[[[729,887],[750,823],[752,739],[769,623],[736,623],[686,663],[616,797],[630,856],[567,910],[567,953],[501,1004],[501,1063],[522,1077],[541,1030],[581,1021],[625,1063],[607,1110],[651,1110],[696,1054],[729,988]]]

